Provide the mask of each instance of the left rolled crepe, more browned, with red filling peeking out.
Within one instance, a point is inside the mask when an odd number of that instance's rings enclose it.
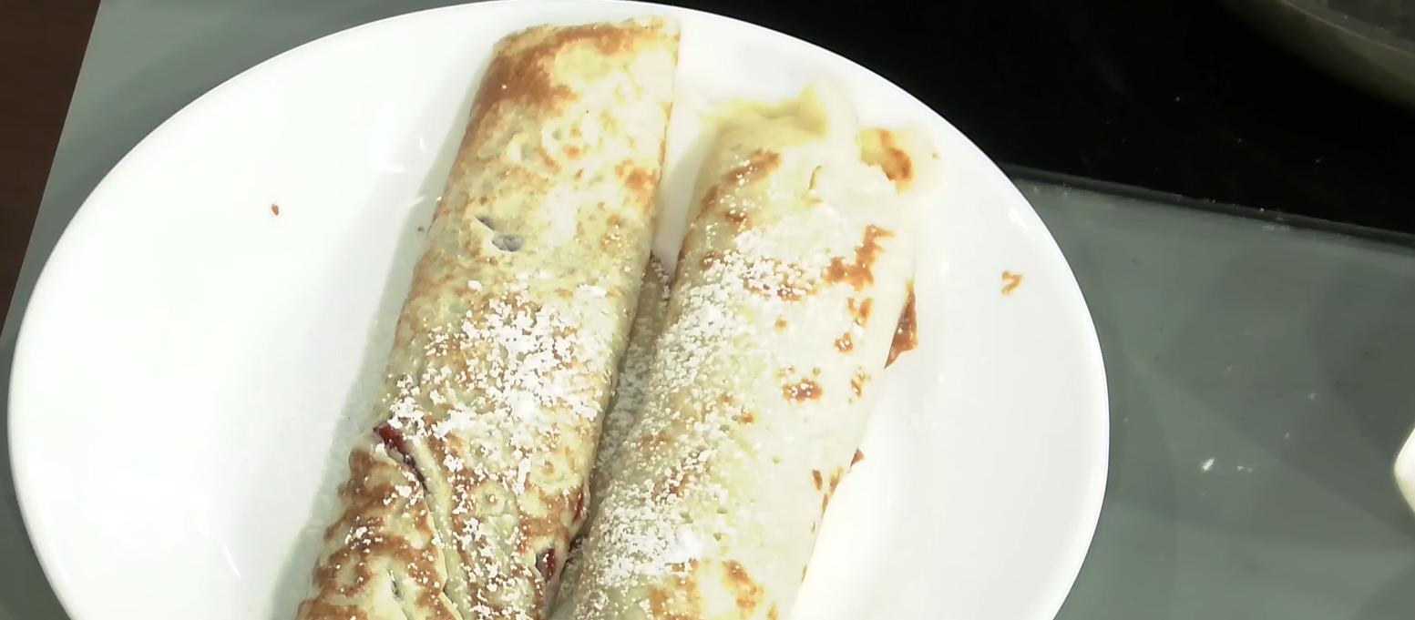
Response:
[[[301,620],[531,620],[584,518],[654,229],[676,25],[497,44]]]

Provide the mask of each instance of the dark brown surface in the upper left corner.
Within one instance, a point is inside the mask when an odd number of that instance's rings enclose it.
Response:
[[[0,0],[0,316],[10,306],[99,0]]]

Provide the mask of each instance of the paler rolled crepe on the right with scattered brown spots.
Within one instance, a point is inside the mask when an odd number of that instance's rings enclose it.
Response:
[[[720,127],[645,405],[555,620],[785,617],[872,381],[913,342],[928,141],[857,131],[824,85]]]

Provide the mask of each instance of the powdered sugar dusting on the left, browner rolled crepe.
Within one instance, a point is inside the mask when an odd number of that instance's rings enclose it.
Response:
[[[393,380],[388,404],[453,541],[447,593],[471,617],[536,617],[556,568],[538,558],[563,539],[583,484],[562,438],[599,422],[616,357],[608,291],[562,301],[548,290],[563,284],[539,275],[483,278],[470,309],[426,330],[420,370]]]

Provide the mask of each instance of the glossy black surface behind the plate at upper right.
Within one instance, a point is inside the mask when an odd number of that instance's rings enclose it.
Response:
[[[826,47],[1019,177],[1065,175],[1415,233],[1415,110],[1214,0],[678,0]]]

